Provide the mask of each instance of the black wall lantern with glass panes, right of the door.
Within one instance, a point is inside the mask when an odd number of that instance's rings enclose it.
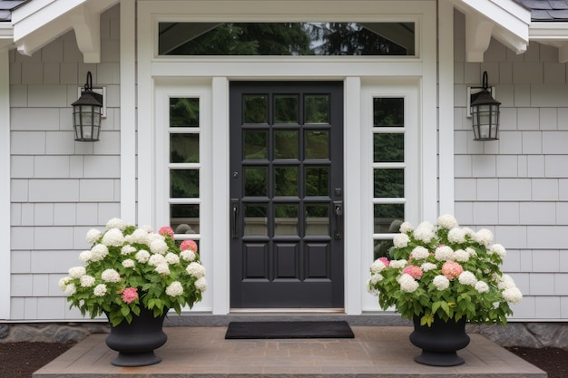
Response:
[[[474,141],[495,141],[499,139],[499,105],[491,96],[484,72],[481,92],[471,94],[471,115],[474,125]]]

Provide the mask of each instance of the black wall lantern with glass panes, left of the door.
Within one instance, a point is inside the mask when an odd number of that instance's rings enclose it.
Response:
[[[93,92],[93,77],[87,73],[81,97],[73,102],[73,129],[75,141],[98,141],[101,131],[103,95]]]

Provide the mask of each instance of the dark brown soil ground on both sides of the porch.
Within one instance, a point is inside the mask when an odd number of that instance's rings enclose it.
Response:
[[[32,373],[63,354],[73,344],[0,343],[0,378],[31,378]],[[548,373],[548,378],[568,377],[568,350],[558,348],[507,348]]]

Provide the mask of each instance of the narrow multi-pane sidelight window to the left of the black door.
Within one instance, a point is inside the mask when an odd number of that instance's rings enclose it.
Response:
[[[169,102],[170,225],[180,238],[193,238],[200,233],[200,99]]]

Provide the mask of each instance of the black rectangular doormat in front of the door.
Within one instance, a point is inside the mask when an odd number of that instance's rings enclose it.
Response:
[[[230,322],[226,339],[354,338],[346,321]]]

